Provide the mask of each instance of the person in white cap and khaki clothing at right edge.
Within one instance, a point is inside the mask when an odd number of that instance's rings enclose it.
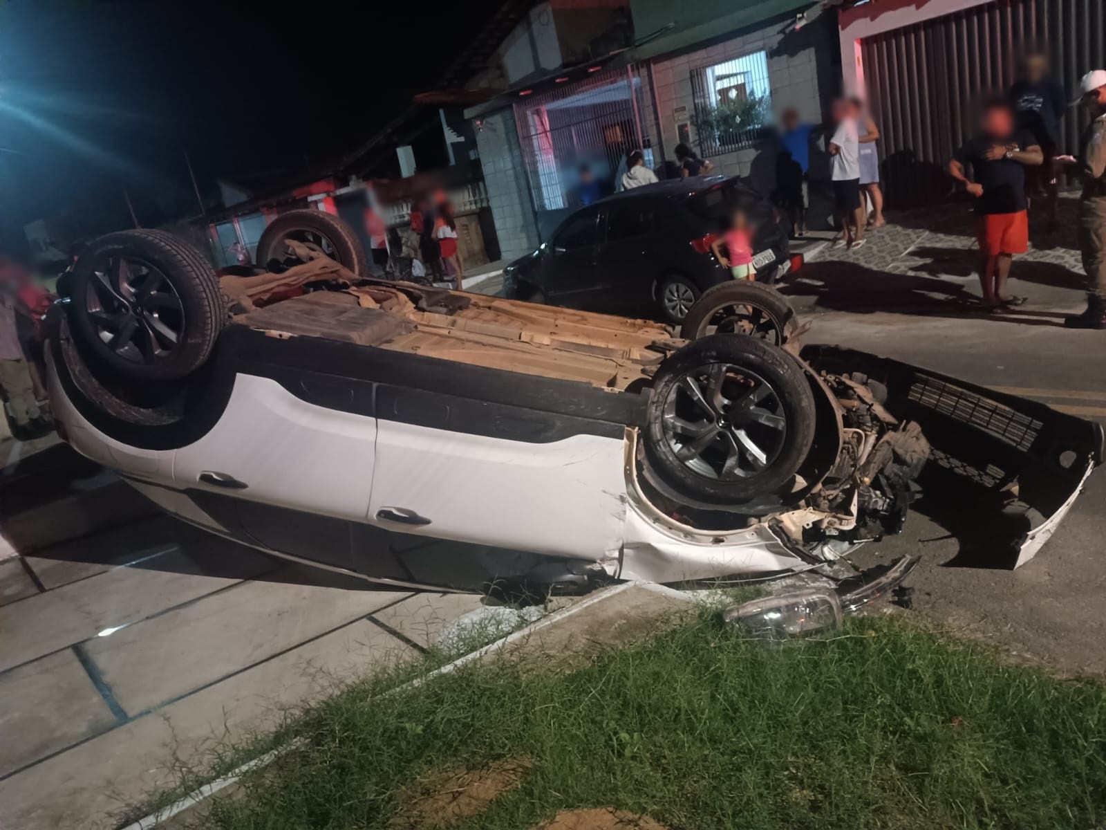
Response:
[[[1064,319],[1068,329],[1106,329],[1106,70],[1079,82],[1082,104],[1093,121],[1083,133],[1078,158],[1064,158],[1083,179],[1079,197],[1079,250],[1087,272],[1087,310]]]

